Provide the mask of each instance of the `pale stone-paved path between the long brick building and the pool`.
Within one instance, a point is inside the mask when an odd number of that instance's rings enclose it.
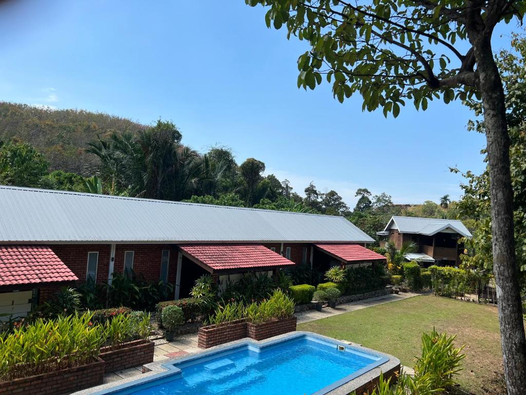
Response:
[[[388,294],[381,297],[360,300],[357,302],[345,303],[337,305],[336,309],[329,307],[323,308],[321,311],[309,310],[301,313],[297,313],[298,323],[304,323],[322,318],[332,317],[333,315],[348,313],[350,311],[365,309],[372,306],[377,306],[383,303],[394,302],[397,300],[412,298],[420,295],[419,293],[403,293],[400,294]],[[164,361],[170,358],[183,357],[191,353],[197,353],[203,351],[197,348],[197,333],[191,333],[179,336],[177,340],[167,342],[165,339],[154,340],[154,362]],[[121,370],[115,373],[109,373],[104,376],[104,383],[115,382],[128,378],[131,376],[138,376],[141,374],[142,367],[130,368]]]

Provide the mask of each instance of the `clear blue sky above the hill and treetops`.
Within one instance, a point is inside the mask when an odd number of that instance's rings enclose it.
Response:
[[[395,120],[363,113],[360,96],[338,103],[327,84],[298,90],[307,48],[267,29],[264,13],[243,0],[11,0],[0,6],[0,100],[162,117],[195,149],[230,146],[297,192],[313,181],[350,206],[358,187],[396,203],[457,199],[449,166],[483,170],[484,136],[466,130],[459,102],[407,106]]]

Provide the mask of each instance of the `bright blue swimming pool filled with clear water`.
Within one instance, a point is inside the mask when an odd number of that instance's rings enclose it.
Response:
[[[167,372],[97,395],[325,394],[389,359],[315,334],[244,341],[163,366]]]

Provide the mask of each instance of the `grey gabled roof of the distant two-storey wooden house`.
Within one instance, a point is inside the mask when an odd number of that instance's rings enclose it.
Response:
[[[442,220],[438,218],[419,218],[412,216],[393,215],[387,223],[383,232],[392,228],[392,224],[400,233],[418,233],[431,236],[443,230],[451,230],[464,237],[471,238],[472,235],[468,228],[459,220]],[[378,232],[378,233],[383,233]]]

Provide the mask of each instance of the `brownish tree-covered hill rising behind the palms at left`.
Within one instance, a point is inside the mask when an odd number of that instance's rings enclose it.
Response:
[[[19,139],[45,154],[50,170],[85,173],[98,162],[85,152],[97,135],[136,132],[147,126],[119,116],[85,110],[52,110],[27,104],[0,102],[0,141]]]

